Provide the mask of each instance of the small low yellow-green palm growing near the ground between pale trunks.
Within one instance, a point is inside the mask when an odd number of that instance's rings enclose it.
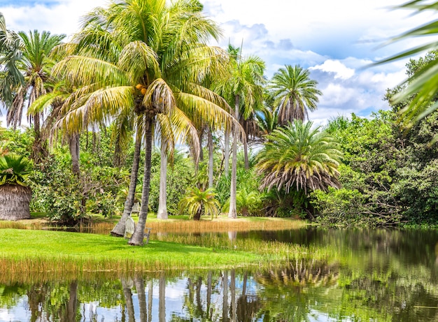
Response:
[[[202,214],[210,215],[213,219],[219,212],[219,201],[216,200],[213,189],[202,191],[194,187],[188,196],[181,199],[178,208],[181,214],[188,212],[190,219],[199,220]]]

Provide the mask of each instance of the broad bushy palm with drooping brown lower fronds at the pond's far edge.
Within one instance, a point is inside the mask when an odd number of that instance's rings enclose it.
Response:
[[[327,191],[339,188],[339,144],[312,122],[295,121],[269,134],[257,156],[257,172],[262,175],[261,189]]]

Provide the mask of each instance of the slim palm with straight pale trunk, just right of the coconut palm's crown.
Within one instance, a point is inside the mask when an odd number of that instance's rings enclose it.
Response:
[[[227,79],[220,80],[216,85],[216,91],[227,98],[230,105],[234,105],[234,117],[236,119],[248,119],[253,115],[255,106],[261,105],[263,98],[262,85],[264,83],[264,61],[259,57],[250,56],[243,58],[236,54],[236,48],[229,46],[232,55],[229,64],[230,72]],[[242,113],[241,113],[242,112]],[[246,133],[244,133],[246,136]],[[232,174],[231,189],[229,196],[229,218],[236,218],[236,168],[237,168],[237,137],[234,132],[232,145]],[[227,145],[225,137],[225,145]],[[246,144],[246,138],[243,138]],[[225,155],[227,158],[227,155]]]

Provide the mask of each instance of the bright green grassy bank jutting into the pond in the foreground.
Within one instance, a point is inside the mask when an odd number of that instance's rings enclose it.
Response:
[[[47,230],[0,230],[0,271],[132,272],[232,267],[270,268],[291,258],[326,257],[299,245],[235,243],[225,238],[172,242],[152,240],[132,247],[122,238]],[[202,244],[203,247],[198,246]],[[311,254],[312,253],[312,254]]]

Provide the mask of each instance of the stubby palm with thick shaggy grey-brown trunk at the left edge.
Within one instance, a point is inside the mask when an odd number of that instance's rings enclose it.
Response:
[[[30,218],[32,193],[26,182],[30,165],[24,156],[0,156],[0,220]]]

